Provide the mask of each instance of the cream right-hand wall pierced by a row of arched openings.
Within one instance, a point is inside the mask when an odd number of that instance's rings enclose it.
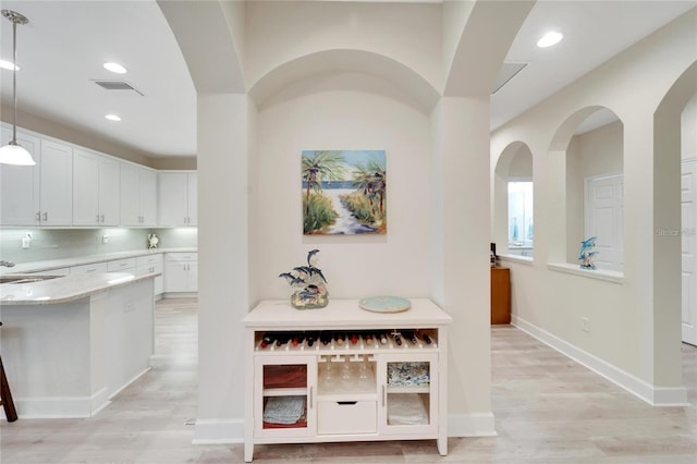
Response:
[[[672,339],[669,322],[678,329],[680,302],[663,296],[673,288],[655,280],[665,262],[655,271],[655,259],[662,257],[653,251],[663,239],[653,235],[653,215],[656,208],[665,207],[655,205],[655,188],[664,187],[655,186],[652,167],[655,156],[661,162],[661,148],[655,154],[653,114],[697,59],[695,21],[693,10],[496,131],[491,139],[492,166],[515,141],[528,144],[535,159],[535,262],[531,268],[511,262],[514,320],[579,350],[647,401],[667,403],[684,399],[684,389],[680,344]],[[565,161],[559,146],[565,147],[568,139],[554,137],[560,126],[568,129],[563,123],[570,117],[598,105],[613,110],[624,123],[625,268],[620,283],[547,267],[550,256],[558,256],[558,236],[566,228]],[[659,295],[664,304],[658,303]],[[589,319],[589,332],[580,330],[582,317]]]

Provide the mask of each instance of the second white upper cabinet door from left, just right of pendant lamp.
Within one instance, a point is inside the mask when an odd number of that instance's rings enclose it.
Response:
[[[41,141],[41,225],[72,225],[73,149]]]

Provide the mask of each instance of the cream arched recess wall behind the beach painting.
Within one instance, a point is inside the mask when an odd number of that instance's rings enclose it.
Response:
[[[256,267],[261,298],[289,298],[280,272],[320,249],[318,267],[330,297],[429,296],[430,135],[428,117],[369,89],[377,77],[339,74],[288,87],[259,112],[252,208],[260,244]],[[301,152],[304,149],[384,149],[387,235],[303,235]]]

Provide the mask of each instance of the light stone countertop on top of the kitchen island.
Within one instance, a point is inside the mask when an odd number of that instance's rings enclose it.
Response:
[[[50,276],[46,272],[41,276]],[[117,286],[129,285],[146,279],[155,279],[159,272],[136,276],[131,272],[81,273],[59,276],[54,279],[29,283],[0,284],[0,306],[51,305],[70,303]],[[27,274],[27,279],[39,276]]]

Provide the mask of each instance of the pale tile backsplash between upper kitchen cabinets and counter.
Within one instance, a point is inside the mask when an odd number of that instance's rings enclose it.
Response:
[[[22,247],[27,233],[28,248]],[[181,229],[0,229],[0,258],[15,264],[147,249],[147,236],[157,233],[160,248],[196,247],[196,228]],[[105,240],[107,237],[107,240]]]

